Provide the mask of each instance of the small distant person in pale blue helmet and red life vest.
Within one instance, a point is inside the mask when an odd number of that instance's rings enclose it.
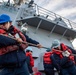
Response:
[[[32,68],[34,67],[34,59],[33,59],[33,56],[32,56],[32,48],[31,47],[26,48],[25,55],[26,55],[26,62],[27,62],[27,65],[28,65],[30,75],[33,75]]]

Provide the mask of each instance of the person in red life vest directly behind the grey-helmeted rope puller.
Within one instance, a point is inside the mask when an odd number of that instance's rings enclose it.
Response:
[[[44,64],[44,71],[46,75],[55,75],[54,68],[57,69],[59,72],[59,66],[56,64],[55,60],[52,57],[52,51],[46,50],[43,56],[43,64]]]

